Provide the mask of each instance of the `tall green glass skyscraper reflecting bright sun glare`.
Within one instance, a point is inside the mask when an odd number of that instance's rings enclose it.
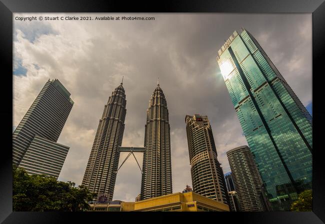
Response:
[[[312,187],[312,118],[255,38],[236,31],[216,58],[274,211]]]

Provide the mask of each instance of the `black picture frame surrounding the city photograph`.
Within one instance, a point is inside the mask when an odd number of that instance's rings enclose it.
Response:
[[[312,117],[313,122],[313,209],[312,212],[255,213],[60,213],[12,212],[12,13],[13,12],[231,12],[231,13],[312,13]],[[322,134],[325,109],[322,91],[325,40],[324,0],[0,0],[0,43],[2,64],[2,143],[0,163],[0,222],[3,224],[94,223],[126,218],[138,221],[240,222],[249,224],[321,224],[325,222],[325,175],[322,163]],[[10,94],[11,93],[11,94]],[[140,217],[139,217],[140,216]],[[101,219],[102,221],[98,221]],[[79,220],[79,221],[76,221]],[[211,222],[211,221],[209,221]]]

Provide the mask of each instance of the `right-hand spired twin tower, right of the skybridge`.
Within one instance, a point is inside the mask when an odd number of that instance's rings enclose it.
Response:
[[[141,200],[172,193],[170,127],[165,96],[154,89],[146,110]]]

